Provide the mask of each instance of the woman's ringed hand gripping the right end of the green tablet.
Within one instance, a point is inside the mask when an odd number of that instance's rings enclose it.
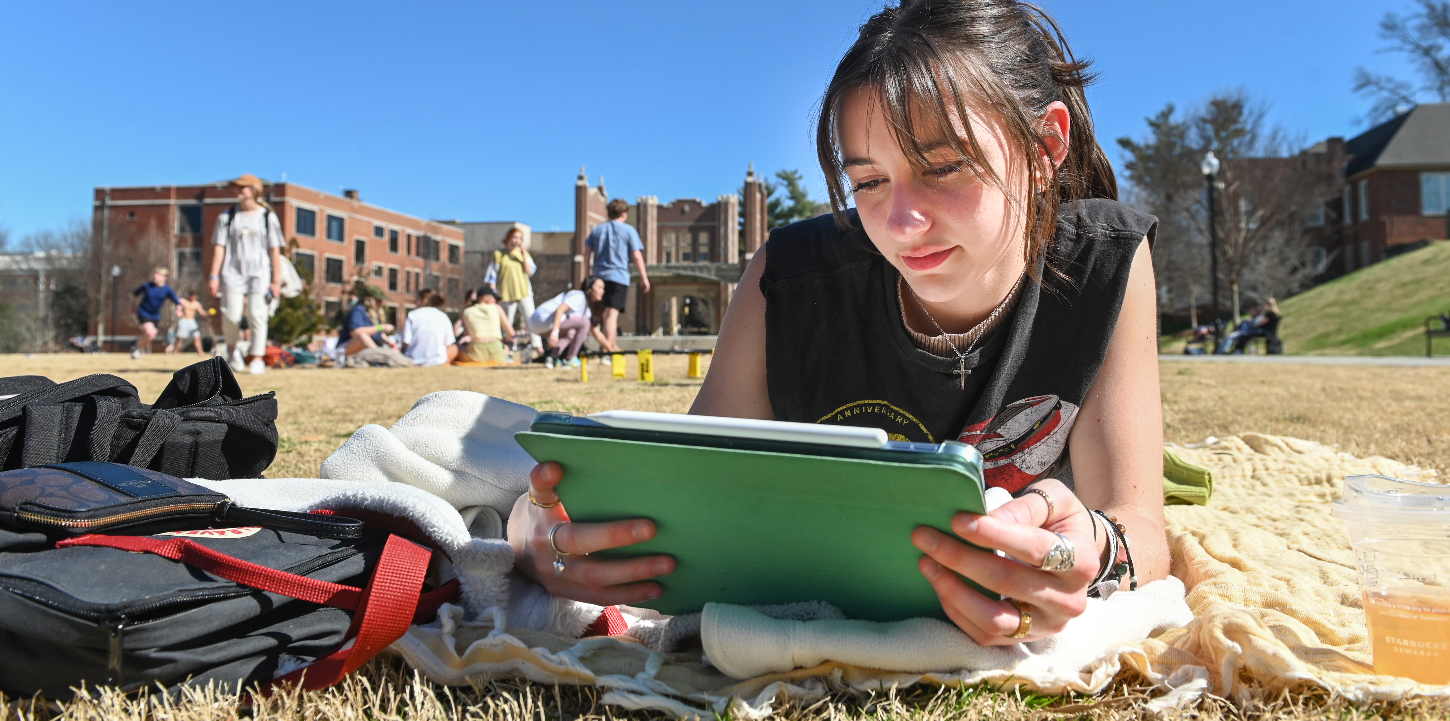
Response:
[[[1038,481],[1030,488],[1045,492],[1051,505],[1030,491],[987,515],[958,513],[951,520],[951,530],[966,541],[999,549],[1011,557],[974,549],[935,528],[912,531],[912,543],[925,553],[918,569],[937,589],[941,608],[982,646],[1034,641],[1061,631],[1088,607],[1088,585],[1098,576],[1101,550],[1088,508],[1057,479]],[[1060,543],[1054,531],[1072,541],[1077,557],[1061,573],[1040,569],[1053,544]],[[1031,614],[1027,636],[1014,637],[1022,623],[1016,604],[979,594],[957,573],[1025,602]]]

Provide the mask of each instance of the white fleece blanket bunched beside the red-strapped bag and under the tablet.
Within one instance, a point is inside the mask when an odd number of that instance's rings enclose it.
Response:
[[[770,701],[764,698],[766,685],[755,682],[802,667],[826,669],[824,675],[835,667],[835,686],[845,683],[840,667],[853,667],[857,675],[876,669],[870,672],[877,673],[874,680],[858,679],[866,686],[883,683],[887,676],[890,685],[1000,676],[1050,692],[1093,692],[1112,680],[1125,647],[1192,620],[1177,579],[1090,602],[1088,612],[1054,638],[993,649],[979,647],[956,627],[935,620],[777,620],[750,608],[712,604],[697,617],[676,620],[624,610],[631,625],[628,640],[637,640],[644,653],[612,657],[602,650],[618,640],[574,640],[599,615],[599,607],[551,598],[536,583],[510,573],[513,559],[502,540],[503,523],[528,488],[534,466],[513,434],[528,429],[535,414],[476,392],[435,392],[420,398],[392,429],[360,429],[322,463],[323,479],[203,484],[242,505],[360,508],[413,520],[450,556],[463,585],[463,608],[445,608],[439,621],[413,627],[394,650],[442,683],[494,675],[594,683],[615,689],[606,701],[670,712],[687,711],[682,699],[724,709],[700,689],[748,686],[754,702],[740,711],[757,717],[768,714]],[[682,633],[699,634],[703,657],[661,653]],[[635,680],[621,680],[621,659],[642,665],[631,672]],[[670,670],[684,669],[680,665],[689,672]],[[671,673],[690,680],[660,680]],[[787,685],[795,692],[819,686],[805,682],[811,670],[796,673],[805,676]]]

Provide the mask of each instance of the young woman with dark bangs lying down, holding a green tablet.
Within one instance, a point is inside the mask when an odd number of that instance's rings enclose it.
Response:
[[[822,101],[834,211],[776,229],[751,259],[690,408],[976,444],[987,485],[1016,498],[957,514],[957,537],[916,528],[912,543],[947,615],[982,644],[1060,631],[1111,588],[1101,581],[1131,588],[1109,517],[1138,583],[1169,570],[1156,220],[1114,200],[1086,67],[1050,17],[1012,0],[873,16]],[[657,598],[648,579],[674,570],[667,556],[571,556],[554,576],[561,479],[539,465],[534,504],[515,507],[519,568],[580,601]],[[567,524],[555,543],[574,555],[652,536],[648,520]]]

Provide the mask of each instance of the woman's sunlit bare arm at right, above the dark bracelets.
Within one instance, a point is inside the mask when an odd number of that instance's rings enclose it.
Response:
[[[1067,439],[1077,498],[1128,528],[1140,583],[1169,575],[1156,316],[1153,258],[1144,240],[1132,258],[1108,356]]]

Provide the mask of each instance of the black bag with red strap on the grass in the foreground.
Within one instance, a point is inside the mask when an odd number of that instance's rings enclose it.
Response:
[[[0,513],[0,692],[67,698],[81,685],[135,691],[187,682],[231,691],[274,682],[325,688],[457,598],[457,582],[423,592],[432,552],[387,530],[326,539],[207,523],[180,502],[206,495],[186,481],[97,466],[0,473],[0,505],[10,508]],[[55,478],[75,472],[70,481]],[[38,531],[23,518],[35,502],[84,510],[91,501],[83,497],[94,495],[87,482],[146,507],[170,498],[177,514],[170,524],[151,517],[123,527],[125,536]],[[178,492],[167,495],[164,486]],[[112,501],[94,502],[120,508]],[[249,513],[251,523],[302,527],[299,514]],[[326,527],[351,521],[315,518]],[[416,528],[397,527],[397,518],[377,520],[426,541]]]

